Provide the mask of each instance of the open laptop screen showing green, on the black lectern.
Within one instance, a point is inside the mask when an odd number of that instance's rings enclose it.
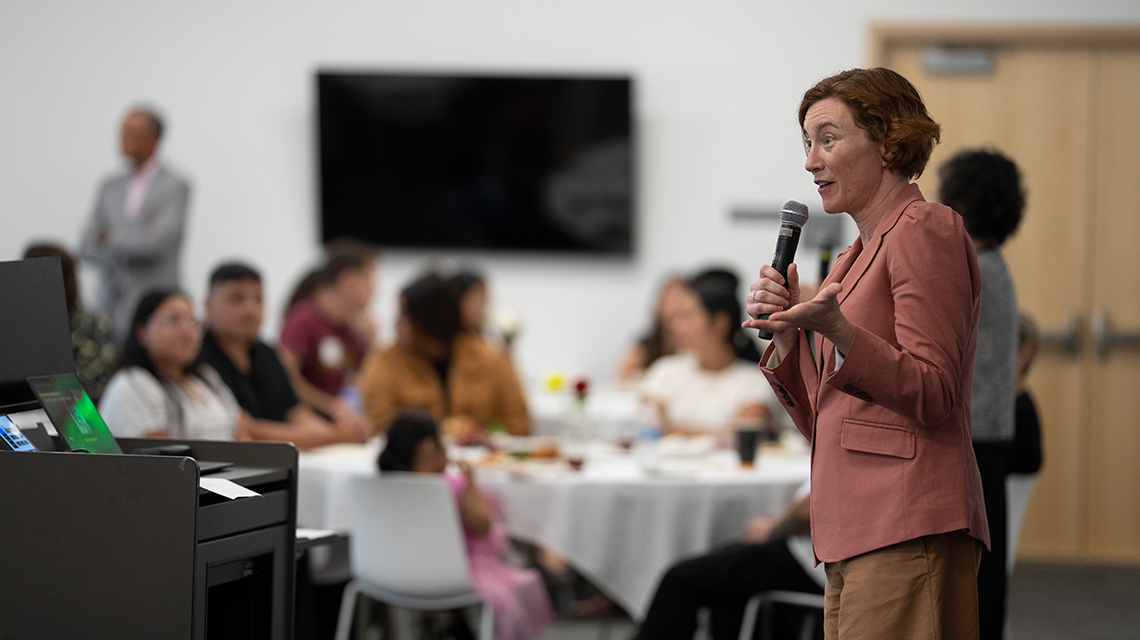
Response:
[[[123,453],[74,373],[36,375],[27,384],[67,446],[91,453]]]

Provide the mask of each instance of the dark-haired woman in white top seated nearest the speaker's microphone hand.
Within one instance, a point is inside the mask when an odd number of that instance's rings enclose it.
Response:
[[[740,326],[736,276],[705,272],[678,294],[670,323],[678,354],[645,372],[645,402],[660,410],[665,434],[725,434],[741,421],[767,421],[774,400],[757,367],[755,342]]]

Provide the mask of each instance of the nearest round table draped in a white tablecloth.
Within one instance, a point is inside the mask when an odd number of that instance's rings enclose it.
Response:
[[[348,484],[376,471],[380,444],[302,452],[298,526],[348,530]],[[459,457],[472,456],[461,451]],[[477,479],[503,510],[511,535],[561,554],[635,619],[665,570],[683,557],[740,536],[749,519],[775,515],[807,480],[805,453],[768,453],[741,469],[732,452],[638,456],[591,445],[581,471],[564,463],[479,468]]]

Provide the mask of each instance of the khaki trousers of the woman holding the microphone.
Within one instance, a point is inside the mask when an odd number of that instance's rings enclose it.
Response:
[[[951,532],[828,562],[826,640],[977,640],[982,549]]]

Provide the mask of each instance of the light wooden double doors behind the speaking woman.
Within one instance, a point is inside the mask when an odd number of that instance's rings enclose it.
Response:
[[[1003,251],[1020,307],[1044,330],[1073,318],[1084,327],[1078,349],[1044,350],[1031,374],[1045,464],[1021,556],[1140,561],[1140,358],[1098,358],[1088,331],[1096,309],[1140,325],[1140,79],[1126,78],[1140,34],[1112,51],[1096,33],[1034,34],[1049,35],[879,30],[874,63],[914,82],[943,125],[919,180],[928,199],[937,167],[962,148],[996,148],[1018,163],[1026,216]],[[928,48],[955,38],[982,43],[992,71],[929,73]]]

